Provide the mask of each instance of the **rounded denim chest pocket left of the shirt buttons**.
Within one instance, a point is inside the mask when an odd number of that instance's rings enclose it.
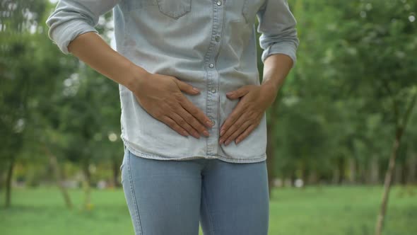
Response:
[[[159,11],[171,18],[180,18],[191,11],[192,0],[156,0]]]

